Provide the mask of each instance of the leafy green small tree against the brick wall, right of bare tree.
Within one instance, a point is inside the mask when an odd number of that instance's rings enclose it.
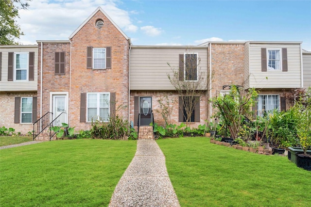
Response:
[[[225,127],[229,129],[233,139],[238,137],[245,117],[252,116],[252,106],[257,96],[258,93],[254,88],[246,92],[242,87],[232,85],[230,94],[210,100],[213,107],[217,109],[214,116],[220,118]]]

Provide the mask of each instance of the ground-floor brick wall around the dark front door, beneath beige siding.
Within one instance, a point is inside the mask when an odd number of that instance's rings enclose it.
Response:
[[[160,105],[158,103],[159,98],[163,98],[164,96],[168,96],[170,100],[173,100],[173,112],[171,114],[171,123],[179,125],[180,122],[178,121],[178,94],[174,91],[131,91],[130,95],[130,119],[129,121],[134,122],[134,96],[151,96],[152,97],[152,110],[154,113],[155,123],[159,126],[164,126],[165,121],[162,118],[160,112]],[[208,100],[207,96],[200,97],[200,122],[192,122],[190,123],[190,127],[197,127],[200,124],[205,124],[205,120],[207,120],[208,114]]]

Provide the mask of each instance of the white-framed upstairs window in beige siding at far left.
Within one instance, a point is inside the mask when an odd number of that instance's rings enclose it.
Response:
[[[14,53],[15,80],[27,80],[28,53]]]

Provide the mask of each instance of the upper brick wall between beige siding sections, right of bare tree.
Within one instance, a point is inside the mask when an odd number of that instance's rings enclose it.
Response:
[[[224,85],[243,85],[244,43],[212,43],[209,49],[211,63],[208,69],[211,65],[212,97],[219,96]]]

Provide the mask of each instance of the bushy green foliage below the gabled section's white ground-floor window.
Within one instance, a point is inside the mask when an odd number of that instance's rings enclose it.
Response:
[[[90,132],[95,139],[122,140],[131,137],[133,131],[131,131],[128,120],[117,115],[110,117],[108,122],[92,121]],[[134,134],[132,135],[131,138],[135,138]]]

